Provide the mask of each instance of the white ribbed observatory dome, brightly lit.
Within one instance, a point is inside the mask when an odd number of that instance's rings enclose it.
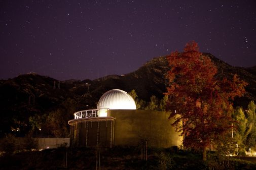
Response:
[[[136,109],[133,98],[125,91],[113,89],[105,92],[99,99],[98,109]]]

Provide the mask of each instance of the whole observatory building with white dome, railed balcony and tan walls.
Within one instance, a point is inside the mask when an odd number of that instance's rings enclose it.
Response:
[[[182,137],[175,132],[165,111],[136,110],[133,98],[113,89],[99,99],[97,109],[81,110],[68,121],[71,146],[180,146]]]

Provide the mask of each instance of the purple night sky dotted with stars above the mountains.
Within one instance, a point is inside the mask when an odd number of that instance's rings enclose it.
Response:
[[[198,42],[232,66],[256,65],[256,1],[0,0],[0,78],[127,74]]]

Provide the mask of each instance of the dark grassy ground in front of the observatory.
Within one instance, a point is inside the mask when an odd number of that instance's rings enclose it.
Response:
[[[148,160],[141,160],[139,147],[63,147],[2,155],[0,169],[256,169],[256,162],[234,157],[220,160],[214,153],[208,156],[203,162],[200,153],[149,148]]]

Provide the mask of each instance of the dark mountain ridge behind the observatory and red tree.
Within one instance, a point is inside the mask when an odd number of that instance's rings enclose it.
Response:
[[[236,98],[235,105],[246,107],[249,101],[256,101],[256,66],[252,68],[233,67],[209,53],[204,53],[204,55],[209,56],[217,66],[217,78],[231,79],[234,74],[237,74],[241,80],[248,83],[245,96]],[[72,118],[72,112],[96,108],[100,96],[110,89],[122,89],[127,92],[134,89],[138,98],[146,101],[149,101],[152,95],[162,98],[168,84],[166,80],[168,70],[166,57],[160,56],[126,75],[109,75],[93,81],[60,81],[60,88],[58,88],[58,80],[37,74],[1,80],[0,136],[11,130],[21,129],[23,126],[23,133],[18,133],[22,136],[31,129],[29,117],[33,115],[38,115],[39,118],[42,115],[47,117],[49,112],[57,109],[67,110],[65,114],[63,113],[62,124],[65,124]],[[42,123],[46,121],[46,118],[40,121]]]

